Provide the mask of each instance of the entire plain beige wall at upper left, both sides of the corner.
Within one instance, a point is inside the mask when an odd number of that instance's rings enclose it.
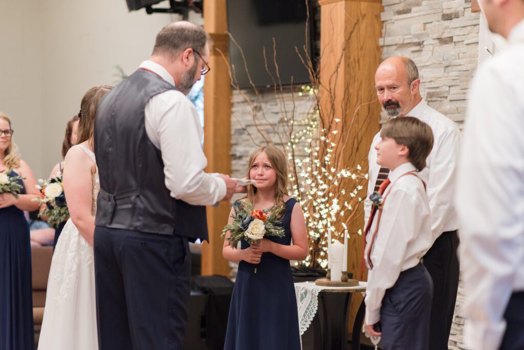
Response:
[[[0,0],[0,111],[37,177],[60,160],[65,123],[85,91],[118,82],[116,65],[132,73],[160,28],[179,19],[129,13],[125,0]]]

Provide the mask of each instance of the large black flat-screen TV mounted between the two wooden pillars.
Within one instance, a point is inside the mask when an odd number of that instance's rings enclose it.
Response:
[[[308,19],[307,13],[306,0],[227,0],[228,31],[244,52],[249,75],[255,86],[273,86],[271,75],[265,68],[264,47],[268,69],[277,79],[273,38],[276,41],[276,60],[282,85],[310,82],[309,72],[295,50],[297,47],[304,57],[303,47],[307,42],[309,56],[312,57],[312,15],[310,13]],[[238,86],[241,89],[251,87],[241,50],[231,38],[229,53]]]

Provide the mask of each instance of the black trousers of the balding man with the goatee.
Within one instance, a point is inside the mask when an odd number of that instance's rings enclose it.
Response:
[[[459,289],[459,258],[457,231],[442,233],[424,255],[424,265],[433,280],[429,348],[447,350],[457,290]]]

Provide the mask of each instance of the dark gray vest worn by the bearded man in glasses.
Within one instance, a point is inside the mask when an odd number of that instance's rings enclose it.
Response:
[[[168,90],[176,88],[157,74],[138,69],[100,102],[94,130],[100,175],[95,224],[208,239],[205,206],[171,197],[161,152],[146,134],[146,104]]]

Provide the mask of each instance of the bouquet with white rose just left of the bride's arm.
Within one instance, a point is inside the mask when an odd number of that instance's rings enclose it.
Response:
[[[57,228],[62,222],[68,220],[69,210],[65,202],[63,178],[60,172],[57,176],[49,180],[38,180],[36,188],[40,195],[35,199],[40,205],[46,204],[46,208],[38,215],[46,216],[47,223],[53,228]]]

